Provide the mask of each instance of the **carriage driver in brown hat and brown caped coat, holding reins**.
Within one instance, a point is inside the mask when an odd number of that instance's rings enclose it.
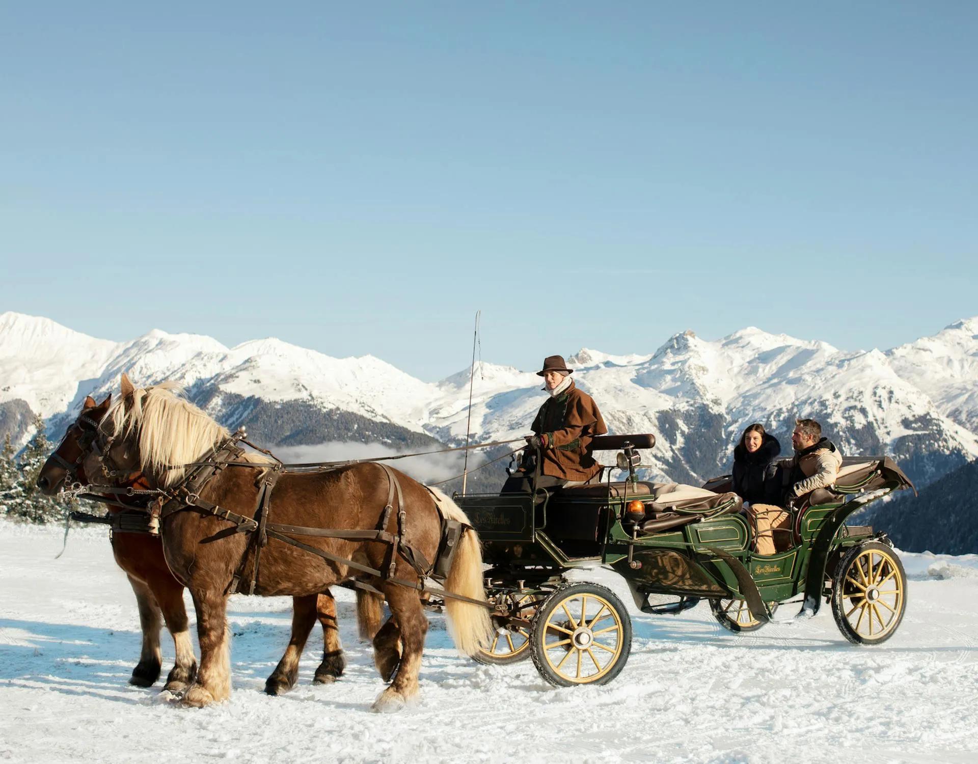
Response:
[[[550,393],[530,427],[534,434],[526,437],[540,459],[537,488],[582,485],[601,472],[590,446],[595,435],[603,435],[608,428],[594,398],[574,384],[571,374],[573,370],[559,355],[548,357],[544,368],[537,372]],[[503,493],[531,493],[533,475],[534,468],[524,461],[506,481]]]

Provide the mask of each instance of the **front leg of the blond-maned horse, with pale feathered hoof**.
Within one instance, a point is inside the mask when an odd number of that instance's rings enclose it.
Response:
[[[184,705],[198,708],[231,696],[231,638],[228,635],[228,598],[216,591],[191,590],[197,610],[200,669],[184,694]]]

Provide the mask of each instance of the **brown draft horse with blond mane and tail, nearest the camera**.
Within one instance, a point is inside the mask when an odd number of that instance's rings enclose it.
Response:
[[[199,462],[230,437],[199,408],[163,383],[151,388],[134,387],[123,375],[122,395],[111,404],[99,427],[95,447],[83,460],[90,474],[142,472],[155,488],[181,484],[185,467]],[[263,457],[248,455],[254,468],[217,471],[200,489],[200,500],[239,516],[256,516],[262,473],[272,465]],[[441,540],[441,519],[450,517],[467,524],[463,512],[444,494],[429,491],[411,477],[392,471],[401,486],[393,504],[403,511],[404,543],[434,560]],[[377,464],[359,464],[329,472],[283,472],[275,484],[270,515],[272,522],[295,526],[343,530],[380,529],[399,532],[398,518],[385,513],[388,504],[387,473]],[[387,523],[381,526],[381,517]],[[182,698],[186,705],[204,706],[231,693],[230,639],[227,598],[236,580],[248,580],[256,572],[255,593],[261,596],[314,596],[329,586],[358,578],[382,591],[391,617],[375,638],[376,660],[381,674],[396,666],[396,675],[374,703],[375,710],[394,710],[418,693],[427,620],[419,591],[391,580],[358,572],[345,562],[333,562],[270,538],[255,571],[250,536],[235,532],[226,519],[200,509],[162,518],[163,554],[174,575],[191,592],[197,611],[200,670]],[[302,543],[343,561],[380,570],[393,566],[394,577],[420,583],[412,564],[401,555],[388,559],[390,547],[378,540],[350,540],[303,536]],[[478,537],[470,528],[456,547],[445,581],[447,592],[484,602],[482,556]],[[469,655],[487,643],[491,632],[485,607],[446,598],[449,632],[460,651]],[[391,634],[396,634],[391,638]],[[400,655],[397,655],[400,647]],[[399,659],[399,660],[398,660]]]

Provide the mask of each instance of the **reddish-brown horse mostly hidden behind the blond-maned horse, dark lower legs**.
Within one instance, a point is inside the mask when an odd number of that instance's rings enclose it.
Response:
[[[66,481],[88,484],[80,464],[83,456],[86,430],[89,436],[94,427],[102,422],[111,404],[111,395],[96,404],[86,396],[82,410],[75,422],[67,427],[62,442],[41,468],[37,485],[41,491],[53,496]],[[137,477],[140,477],[137,475]],[[139,486],[139,482],[135,483]],[[126,497],[120,497],[123,501]],[[113,515],[121,508],[109,507]],[[170,572],[163,558],[163,545],[158,536],[148,533],[113,533],[112,555],[125,572],[136,595],[139,607],[139,623],[143,631],[143,647],[139,663],[132,670],[129,683],[137,687],[151,687],[159,678],[162,654],[159,647],[160,616],[173,637],[176,661],[166,677],[164,691],[174,694],[184,692],[197,676],[197,658],[188,630],[187,608],[184,607],[184,586]],[[361,604],[360,626],[365,636],[372,638],[379,626],[379,607]],[[365,620],[365,616],[369,620]],[[313,624],[319,620],[323,627],[323,661],[316,669],[313,682],[333,682],[343,673],[345,660],[339,642],[336,625],[336,605],[330,592],[292,598],[292,631],[289,648],[275,671],[265,683],[265,692],[280,695],[288,692],[298,676],[298,662]]]

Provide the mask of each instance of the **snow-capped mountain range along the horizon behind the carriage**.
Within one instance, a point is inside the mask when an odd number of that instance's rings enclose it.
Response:
[[[337,359],[274,338],[228,348],[210,337],[154,330],[116,343],[5,313],[0,362],[0,409],[25,404],[57,434],[85,394],[116,389],[123,371],[137,384],[184,383],[229,426],[248,424],[254,432],[258,423],[269,445],[456,443],[469,419],[468,370],[422,382],[369,355]],[[656,435],[645,463],[672,479],[725,472],[735,438],[752,422],[772,430],[788,451],[798,416],[822,421],[844,453],[895,456],[921,483],[978,457],[978,319],[885,353],[748,327],[712,341],[685,332],[652,353],[582,349],[568,363],[612,431]],[[525,434],[544,399],[541,386],[532,372],[479,364],[474,438]]]

